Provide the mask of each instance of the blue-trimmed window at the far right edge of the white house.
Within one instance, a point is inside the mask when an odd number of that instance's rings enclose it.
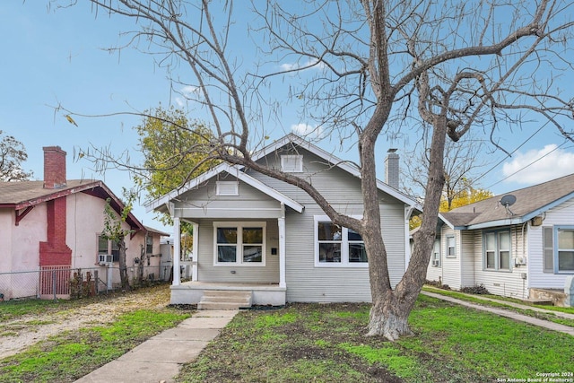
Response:
[[[574,273],[574,226],[544,227],[544,273]]]

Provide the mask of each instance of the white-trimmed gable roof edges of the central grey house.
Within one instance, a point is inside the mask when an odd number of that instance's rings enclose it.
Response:
[[[357,177],[357,178],[361,178],[361,171],[359,170],[359,168],[356,165],[352,164],[352,162],[343,161],[343,160],[337,158],[335,155],[333,155],[329,152],[326,152],[323,149],[320,149],[319,147],[317,147],[314,144],[309,143],[309,141],[304,140],[300,136],[293,135],[293,134],[285,135],[285,136],[283,136],[283,138],[281,138],[277,141],[274,141],[274,143],[265,146],[265,148],[261,149],[258,152],[255,152],[251,156],[251,158],[253,159],[253,161],[260,160],[260,159],[264,158],[266,155],[277,151],[278,149],[282,148],[283,146],[285,146],[287,144],[295,144],[297,146],[300,146],[303,149],[317,155],[317,157],[319,157],[319,158],[321,158],[321,159],[323,159],[329,163],[332,163],[336,167],[350,173],[352,176]],[[304,208],[303,205],[300,205],[298,202],[292,200],[288,196],[284,196],[282,193],[278,192],[274,188],[266,186],[263,182],[257,180],[256,178],[248,176],[248,174],[246,174],[243,171],[243,169],[244,169],[243,166],[230,165],[228,163],[222,162],[219,165],[217,165],[216,167],[214,167],[212,170],[206,171],[203,174],[201,174],[200,176],[198,176],[194,179],[191,179],[183,187],[179,187],[177,189],[174,189],[170,193],[168,193],[164,196],[161,196],[161,197],[145,204],[146,210],[148,212],[152,211],[152,210],[161,210],[161,207],[169,204],[171,200],[182,195],[183,193],[187,192],[188,190],[193,189],[194,187],[198,187],[203,182],[205,182],[206,180],[208,180],[210,178],[213,178],[214,176],[221,173],[222,171],[226,171],[226,172],[230,173],[231,175],[233,175],[233,176],[241,179],[242,181],[248,183],[252,187],[257,187],[257,189],[264,192],[266,195],[272,196],[274,199],[276,199],[280,202],[283,202],[287,206],[290,206],[292,209],[296,210],[297,212],[300,213],[303,211],[303,208]],[[377,186],[378,186],[379,190],[387,193],[390,196],[395,197],[399,201],[403,202],[405,205],[410,205],[410,206],[415,207],[418,210],[421,210],[421,207],[416,203],[416,201],[414,201],[411,197],[406,196],[403,193],[399,192],[398,190],[396,190],[396,188],[390,187],[386,183],[384,183],[380,180],[377,180]]]

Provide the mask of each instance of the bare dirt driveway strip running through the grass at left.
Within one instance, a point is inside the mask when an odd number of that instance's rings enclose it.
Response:
[[[64,331],[100,326],[113,322],[126,312],[165,307],[169,303],[169,286],[161,285],[113,294],[77,308],[48,310],[41,316],[25,315],[5,321],[0,325],[0,359]]]

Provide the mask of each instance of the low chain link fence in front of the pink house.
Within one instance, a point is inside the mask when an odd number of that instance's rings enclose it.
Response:
[[[127,267],[130,285],[167,281],[167,265]],[[141,278],[140,278],[141,273]],[[119,267],[69,268],[42,266],[36,270],[0,273],[0,300],[25,298],[69,299],[95,295],[120,288]]]

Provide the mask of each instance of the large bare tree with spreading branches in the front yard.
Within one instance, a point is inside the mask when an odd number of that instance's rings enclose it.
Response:
[[[497,146],[497,129],[517,126],[525,111],[572,139],[564,127],[572,119],[571,95],[561,93],[557,82],[572,70],[567,57],[574,13],[568,1],[257,1],[248,22],[259,41],[259,65],[246,64],[230,41],[244,36],[239,29],[246,25],[231,0],[91,3],[99,14],[137,22],[127,45],[189,70],[172,78],[185,78],[181,83],[197,90],[190,99],[211,116],[212,158],[300,187],[333,222],[361,234],[373,300],[368,335],[397,339],[411,333],[407,318],[431,255],[448,139],[457,142],[473,128],[491,135]],[[240,43],[249,46],[248,39]],[[290,65],[274,65],[286,60]],[[275,81],[289,83],[301,119],[315,118],[323,131],[357,148],[362,219],[336,211],[307,180],[252,160],[267,135],[264,107],[280,111],[269,91]],[[430,166],[413,256],[393,289],[381,236],[376,144],[404,134],[414,121],[431,126]]]

